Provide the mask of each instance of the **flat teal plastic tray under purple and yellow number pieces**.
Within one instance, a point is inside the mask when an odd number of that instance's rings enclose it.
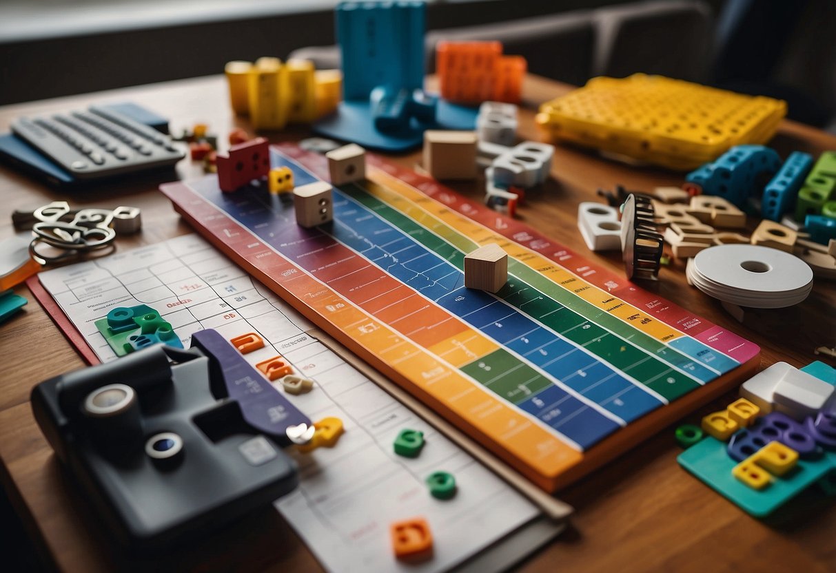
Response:
[[[737,461],[726,455],[726,444],[706,437],[682,452],[677,461],[732,503],[756,517],[764,517],[803,489],[836,469],[836,454],[824,452],[818,459],[799,459],[794,469],[775,477],[764,489],[752,489],[734,476]]]

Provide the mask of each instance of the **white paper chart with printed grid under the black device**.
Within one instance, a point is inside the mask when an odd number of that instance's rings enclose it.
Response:
[[[227,339],[257,332],[265,347],[246,354],[248,362],[280,354],[314,379],[312,392],[288,398],[313,420],[341,418],[345,434],[334,449],[291,452],[300,484],[276,506],[329,570],[446,570],[539,515],[517,490],[311,337],[304,317],[198,236],[45,271],[39,279],[103,362],[115,353],[94,322],[115,307],[146,304],[186,348],[192,332],[204,328]],[[418,458],[393,452],[402,428],[425,433]],[[453,499],[429,494],[424,479],[436,470],[456,476]],[[434,554],[401,564],[390,523],[418,516],[431,526]]]

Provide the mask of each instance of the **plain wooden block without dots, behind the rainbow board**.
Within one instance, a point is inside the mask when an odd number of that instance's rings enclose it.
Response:
[[[476,155],[474,131],[424,132],[424,169],[435,179],[475,179]]]

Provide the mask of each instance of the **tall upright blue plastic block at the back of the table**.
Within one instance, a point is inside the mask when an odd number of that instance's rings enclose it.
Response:
[[[343,2],[335,8],[343,99],[368,101],[372,89],[424,85],[423,2]]]

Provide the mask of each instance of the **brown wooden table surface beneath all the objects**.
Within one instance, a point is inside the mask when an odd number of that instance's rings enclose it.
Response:
[[[536,105],[564,93],[568,86],[529,78],[524,94],[528,108],[521,114],[521,135],[537,139],[533,124]],[[44,114],[78,109],[101,102],[134,101],[171,118],[173,129],[206,122],[225,135],[233,124],[221,77],[189,79],[168,84],[120,89],[101,94],[54,99],[0,108],[0,129],[7,130],[20,114]],[[273,134],[275,141],[306,136],[305,129]],[[836,138],[785,121],[772,145],[782,156],[792,150],[818,153],[836,149]],[[419,154],[395,158],[413,166]],[[177,175],[198,175],[188,160]],[[558,147],[547,192],[534,195],[518,215],[528,225],[573,248],[589,253],[575,215],[579,202],[599,200],[598,188],[625,185],[650,190],[655,185],[680,185],[681,174],[636,169],[566,147]],[[173,175],[172,175],[173,176]],[[144,229],[133,239],[120,239],[119,248],[162,241],[189,232],[170,203],[156,191],[159,177],[129,178],[117,185],[62,195],[0,167],[0,238],[12,232],[13,209],[69,200],[75,205],[135,205],[142,209]],[[476,185],[457,185],[466,195],[481,197]],[[750,229],[751,231],[751,229]],[[598,259],[622,271],[620,256]],[[816,281],[807,301],[782,310],[756,311],[740,324],[718,302],[688,287],[684,265],[663,268],[660,281],[649,286],[662,297],[732,329],[762,347],[762,366],[786,361],[803,366],[815,359],[813,348],[836,342],[836,289]],[[0,382],[0,458],[3,486],[18,510],[44,560],[62,570],[96,571],[147,568],[142,558],[129,559],[114,550],[79,489],[64,474],[34,422],[28,403],[34,384],[79,368],[83,363],[25,287],[25,312],[0,326],[3,375]],[[729,394],[694,413],[690,420],[725,407]],[[836,507],[820,494],[802,494],[775,522],[754,520],[691,477],[675,457],[679,449],[673,428],[647,440],[579,484],[560,493],[577,510],[572,528],[545,550],[533,555],[524,570],[795,570],[799,573],[836,570]],[[213,535],[199,546],[167,561],[173,570],[317,570],[319,565],[293,530],[274,510],[252,515],[234,528]]]

